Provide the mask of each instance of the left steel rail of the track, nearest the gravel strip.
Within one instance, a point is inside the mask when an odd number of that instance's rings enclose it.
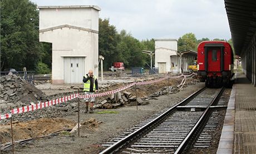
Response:
[[[151,122],[147,123],[145,126],[143,126],[143,127],[139,128],[138,130],[132,132],[130,135],[126,136],[125,138],[122,138],[122,140],[114,143],[114,145],[106,148],[104,151],[100,152],[100,154],[112,153],[112,152],[117,151],[120,147],[124,146],[127,143],[127,141],[130,141],[135,136],[137,136],[140,133],[142,133],[145,130],[147,130],[147,128],[150,128],[152,125],[155,125],[155,123],[159,122],[162,118],[167,116],[169,113],[171,113],[174,110],[176,110],[177,106],[185,105],[185,103],[191,101],[194,97],[196,97],[199,93],[201,93],[205,89],[206,89],[206,87],[201,88],[200,90],[194,92],[192,95],[190,95],[189,97],[185,98],[185,100],[183,100],[180,103],[178,103],[177,105],[171,107],[169,110],[165,111],[163,114],[161,114],[159,117],[156,117],[154,120],[152,120]]]

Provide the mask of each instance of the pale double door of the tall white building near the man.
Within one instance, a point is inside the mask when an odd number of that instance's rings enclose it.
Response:
[[[85,75],[85,57],[64,57],[64,82],[82,83]]]

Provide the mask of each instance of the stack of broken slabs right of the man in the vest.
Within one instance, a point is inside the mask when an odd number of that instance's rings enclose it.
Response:
[[[136,96],[132,96],[130,92],[124,91],[123,93],[117,92],[112,93],[111,96],[107,97],[105,100],[99,101],[100,103],[96,103],[96,108],[117,108],[119,106],[134,106],[136,105]],[[138,105],[147,105],[149,103],[149,98],[144,97],[137,98]]]

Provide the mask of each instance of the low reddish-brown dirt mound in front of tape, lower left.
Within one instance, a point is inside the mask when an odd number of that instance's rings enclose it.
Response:
[[[29,122],[14,121],[13,139],[17,141],[45,136],[58,130],[72,129],[75,125],[76,122],[62,118],[40,118]],[[2,143],[12,141],[11,123],[0,125],[0,137],[2,137]]]

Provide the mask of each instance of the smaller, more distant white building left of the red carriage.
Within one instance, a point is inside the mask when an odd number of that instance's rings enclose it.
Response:
[[[179,73],[178,39],[154,39],[155,67],[159,73]]]

